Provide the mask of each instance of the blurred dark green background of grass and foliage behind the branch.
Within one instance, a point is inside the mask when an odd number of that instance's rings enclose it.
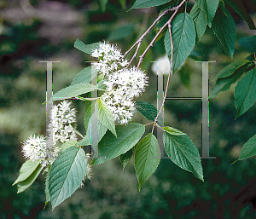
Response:
[[[235,121],[234,86],[210,101],[210,156],[217,158],[202,160],[205,182],[165,158],[138,192],[133,160],[122,170],[115,158],[94,166],[92,180],[54,211],[50,205],[43,210],[45,176],[39,176],[23,193],[17,194],[12,187],[25,162],[20,142],[33,133],[45,135],[46,64],[39,61],[61,61],[53,65],[55,93],[89,65],[84,61],[91,61],[89,55],[73,48],[77,38],[84,43],[107,40],[124,53],[160,12],[156,8],[127,11],[134,2],[109,0],[105,12],[98,0],[0,2],[0,218],[255,218],[256,160],[230,164],[256,132],[256,107]],[[256,21],[255,1],[243,2]],[[237,39],[256,34],[230,12],[236,21]],[[154,34],[154,30],[148,34],[142,49]],[[154,106],[157,77],[152,61],[163,55],[161,38],[142,64],[149,84],[139,99]],[[233,61],[247,55],[236,43]],[[211,90],[214,77],[232,60],[207,29],[185,65],[171,78],[169,97],[201,96],[201,64],[195,61],[216,61],[209,64]],[[73,101],[73,106],[78,111],[78,129],[84,134],[84,102]],[[134,120],[148,122],[139,112]],[[165,124],[183,130],[201,151],[201,101],[166,101]]]

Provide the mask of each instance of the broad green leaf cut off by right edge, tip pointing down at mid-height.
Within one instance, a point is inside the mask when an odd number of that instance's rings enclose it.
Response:
[[[235,88],[236,118],[253,106],[256,101],[256,68],[241,78]]]

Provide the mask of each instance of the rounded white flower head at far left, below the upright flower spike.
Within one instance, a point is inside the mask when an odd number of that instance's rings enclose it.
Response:
[[[22,152],[24,157],[32,160],[32,162],[41,160],[41,165],[44,167],[53,163],[60,150],[58,147],[50,147],[49,149],[43,135],[31,135],[23,141]]]

